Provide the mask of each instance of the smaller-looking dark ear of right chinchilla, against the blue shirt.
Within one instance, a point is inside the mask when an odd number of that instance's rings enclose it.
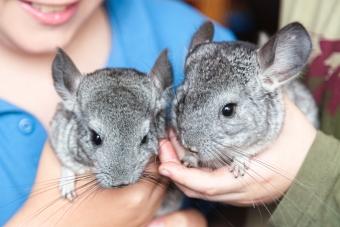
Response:
[[[210,21],[204,22],[199,29],[195,32],[191,39],[189,52],[192,51],[197,45],[205,42],[211,42],[214,37],[214,25]]]

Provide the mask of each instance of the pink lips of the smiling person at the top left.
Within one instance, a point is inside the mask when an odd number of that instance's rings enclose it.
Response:
[[[49,26],[63,25],[70,21],[76,14],[79,1],[65,4],[65,9],[60,12],[43,13],[32,6],[32,2],[20,0],[21,7],[31,14],[41,24]]]

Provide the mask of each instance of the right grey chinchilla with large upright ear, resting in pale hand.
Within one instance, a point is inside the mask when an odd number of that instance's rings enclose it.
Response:
[[[287,94],[317,127],[317,106],[296,78],[312,43],[305,28],[291,23],[262,47],[247,42],[213,42],[213,24],[194,34],[185,79],[172,106],[172,125],[186,148],[189,166],[231,165],[242,176],[251,156],[279,135]]]

